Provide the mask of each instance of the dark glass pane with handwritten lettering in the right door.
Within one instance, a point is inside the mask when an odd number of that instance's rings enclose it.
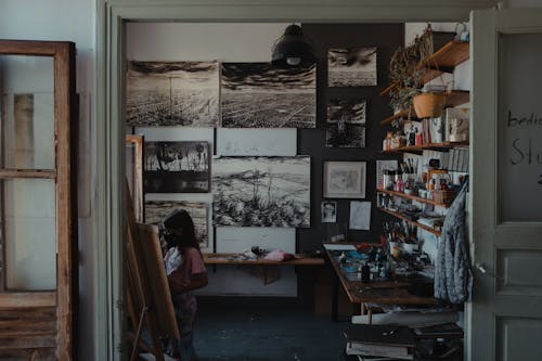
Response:
[[[501,35],[501,221],[542,221],[542,34]],[[476,121],[476,119],[475,119]]]

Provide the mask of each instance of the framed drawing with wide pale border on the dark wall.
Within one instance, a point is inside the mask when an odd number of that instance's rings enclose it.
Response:
[[[365,162],[324,162],[324,198],[364,198]]]

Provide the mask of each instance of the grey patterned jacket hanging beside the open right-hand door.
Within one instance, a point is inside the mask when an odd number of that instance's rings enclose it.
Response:
[[[468,300],[473,284],[466,236],[467,190],[465,181],[448,209],[435,260],[435,298],[451,304]]]

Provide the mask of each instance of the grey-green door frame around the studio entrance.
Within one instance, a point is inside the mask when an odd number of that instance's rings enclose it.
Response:
[[[96,15],[96,180],[93,231],[96,282],[93,319],[94,354],[121,360],[124,344],[125,128],[124,100],[126,23],[390,23],[459,22],[495,0],[98,0]],[[278,34],[279,36],[279,34]],[[270,44],[271,48],[271,44]],[[105,315],[105,318],[103,317]]]

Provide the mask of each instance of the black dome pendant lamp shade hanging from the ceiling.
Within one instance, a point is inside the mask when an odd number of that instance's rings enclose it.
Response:
[[[271,63],[281,67],[314,64],[314,50],[298,25],[289,25],[273,46]]]

